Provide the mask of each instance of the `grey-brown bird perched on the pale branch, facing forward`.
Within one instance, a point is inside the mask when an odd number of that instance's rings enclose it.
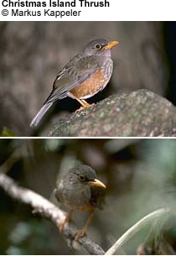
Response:
[[[96,179],[96,172],[89,165],[77,165],[57,180],[54,196],[64,204],[69,212],[59,223],[60,232],[66,222],[70,222],[73,212],[90,211],[84,226],[75,233],[75,240],[83,236],[94,215],[95,207],[101,208],[101,197],[106,185]]]

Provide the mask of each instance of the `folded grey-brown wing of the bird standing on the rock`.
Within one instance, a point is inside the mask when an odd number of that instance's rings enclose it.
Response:
[[[80,83],[94,74],[98,67],[94,56],[83,57],[81,55],[75,55],[56,77],[53,84],[53,91],[51,91],[44,104],[67,97],[67,93],[71,89],[80,85]]]

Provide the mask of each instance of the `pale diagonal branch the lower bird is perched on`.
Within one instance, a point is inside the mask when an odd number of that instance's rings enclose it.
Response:
[[[13,199],[32,206],[34,213],[37,212],[40,216],[48,218],[56,227],[58,227],[60,220],[65,217],[65,212],[61,211],[60,208],[46,200],[43,196],[17,185],[13,179],[1,173],[0,187],[2,187]],[[80,244],[90,254],[102,255],[105,253],[98,244],[94,243],[86,235],[73,243],[75,231],[76,227],[73,224],[65,224],[63,235],[70,247],[78,248]]]

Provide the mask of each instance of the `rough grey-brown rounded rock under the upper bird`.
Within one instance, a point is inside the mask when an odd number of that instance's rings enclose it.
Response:
[[[56,123],[49,136],[145,137],[176,135],[176,108],[146,89],[125,92],[73,113]]]

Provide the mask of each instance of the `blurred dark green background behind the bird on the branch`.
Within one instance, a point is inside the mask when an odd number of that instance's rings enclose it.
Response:
[[[0,161],[0,171],[4,171],[6,161],[7,175],[56,204],[52,192],[57,175],[63,175],[76,163],[91,165],[107,189],[104,210],[96,211],[88,234],[105,250],[149,212],[165,206],[175,211],[176,140],[173,138],[7,138],[0,140]],[[75,214],[78,227],[85,215]],[[125,244],[124,252],[136,253],[137,247],[148,240],[151,230],[161,233],[162,226],[162,222],[157,222],[139,232]],[[163,229],[160,237],[164,239],[164,247],[169,244],[175,252],[174,216]],[[86,253],[70,251],[51,222],[34,216],[29,206],[13,201],[1,188],[0,234],[1,254]]]

